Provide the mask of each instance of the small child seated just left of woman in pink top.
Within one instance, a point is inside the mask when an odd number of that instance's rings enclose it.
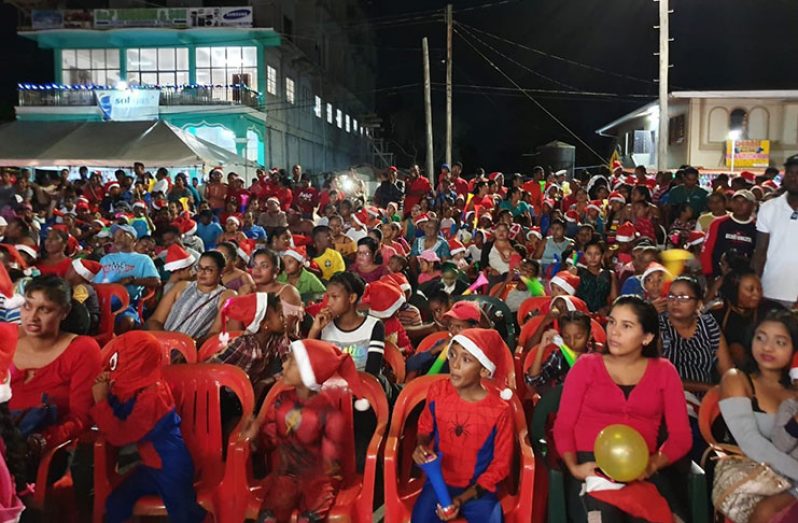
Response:
[[[577,358],[592,351],[590,317],[587,314],[582,311],[569,311],[559,316],[558,323],[559,332],[550,329],[543,333],[535,352],[535,359],[524,377],[526,384],[534,387],[541,395],[562,384],[571,369],[555,341],[564,343],[576,353]],[[557,337],[560,337],[560,340],[557,340]]]

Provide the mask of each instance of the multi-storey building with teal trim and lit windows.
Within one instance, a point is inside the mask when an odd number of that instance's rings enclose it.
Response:
[[[19,35],[52,49],[55,64],[50,84],[19,79],[17,119],[159,118],[261,165],[315,173],[387,163],[375,148],[376,47],[359,2],[172,3],[25,12],[15,2],[28,25]]]

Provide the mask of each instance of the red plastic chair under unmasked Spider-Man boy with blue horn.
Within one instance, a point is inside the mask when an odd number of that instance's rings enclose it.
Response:
[[[391,428],[385,442],[383,474],[385,478],[385,521],[406,523],[413,513],[423,480],[410,478],[408,470],[412,467],[412,459],[402,453],[412,452],[416,446],[416,427],[407,425],[408,416],[427,397],[430,385],[447,376],[422,376],[408,383],[399,394],[394,405]],[[509,478],[514,489],[505,489],[500,493],[500,501],[504,511],[504,519],[508,523],[529,523],[532,521],[532,498],[535,478],[535,459],[527,437],[527,424],[524,411],[516,395],[510,400],[513,406],[516,440],[517,466],[513,470],[517,477]],[[402,451],[400,452],[400,447]],[[409,478],[409,479],[404,479]],[[512,491],[512,492],[510,492]],[[464,520],[457,520],[464,521]]]

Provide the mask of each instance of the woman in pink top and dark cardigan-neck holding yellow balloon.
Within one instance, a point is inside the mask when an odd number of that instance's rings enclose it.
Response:
[[[656,473],[687,454],[692,434],[679,374],[659,357],[658,333],[657,311],[650,303],[637,296],[615,300],[607,319],[608,352],[580,357],[565,379],[554,442],[571,475],[581,482],[597,475],[593,447],[599,432],[616,423],[633,427],[650,453],[639,479],[649,479],[678,513]],[[663,420],[668,437],[658,445]],[[601,521],[626,520],[626,513],[590,494],[584,504],[588,512],[600,512]]]

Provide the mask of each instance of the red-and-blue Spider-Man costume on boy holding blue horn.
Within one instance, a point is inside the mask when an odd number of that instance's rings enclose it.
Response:
[[[454,498],[472,485],[484,492],[460,507],[469,522],[502,521],[498,484],[510,473],[513,456],[512,410],[490,387],[481,401],[460,398],[449,380],[434,383],[418,420],[418,434],[431,435],[441,457],[443,479]],[[439,521],[437,497],[429,481],[413,507],[413,523]]]

